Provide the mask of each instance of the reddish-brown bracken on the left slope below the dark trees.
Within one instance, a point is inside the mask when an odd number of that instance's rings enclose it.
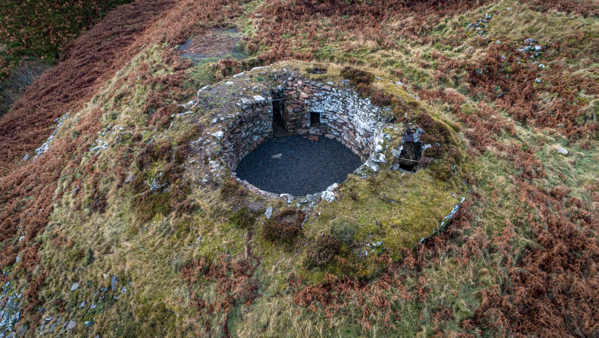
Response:
[[[98,156],[93,156],[80,167],[81,156],[90,147],[87,138],[95,140],[102,119],[100,108],[78,120],[75,129],[80,137],[62,137],[53,141],[51,149],[33,162],[17,165],[15,158],[31,153],[52,131],[53,120],[69,110],[83,107],[84,102],[105,85],[108,79],[123,68],[140,51],[144,44],[162,42],[180,43],[192,32],[199,32],[205,26],[198,22],[209,22],[208,26],[223,25],[238,16],[240,5],[220,8],[221,1],[196,4],[189,0],[181,1],[144,1],[123,5],[118,11],[110,13],[87,34],[69,44],[64,60],[28,87],[13,110],[2,117],[0,124],[0,241],[8,243],[1,252],[2,268],[13,265],[17,256],[22,257],[19,269],[31,278],[38,264],[35,253],[37,246],[32,240],[44,231],[54,202],[60,200],[62,193],[56,195],[56,185],[61,173],[83,171],[93,173],[93,165]],[[183,10],[192,8],[192,10]],[[186,93],[181,86],[181,77],[189,62],[183,62],[173,50],[162,55],[164,65],[174,68],[176,74],[152,79],[168,90],[150,93],[149,107],[156,109],[152,125],[164,125],[168,113],[165,95]],[[136,73],[120,77],[121,85],[133,83],[143,78],[150,70],[144,65]],[[114,86],[120,88],[120,85]],[[109,93],[107,101],[120,93]],[[35,112],[35,113],[34,113]],[[99,173],[93,173],[98,175]],[[77,182],[75,182],[77,184]],[[24,235],[25,239],[16,242],[13,239]],[[31,253],[31,254],[29,254]],[[6,278],[6,276],[4,277]],[[32,289],[33,290],[33,289]],[[36,295],[28,295],[31,304],[35,304]],[[28,305],[27,305],[28,306]],[[28,306],[33,311],[34,306]],[[26,313],[34,315],[33,312]],[[36,313],[35,315],[39,315]]]

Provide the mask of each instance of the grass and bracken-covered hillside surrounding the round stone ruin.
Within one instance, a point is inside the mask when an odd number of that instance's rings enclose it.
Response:
[[[598,14],[597,1],[118,7],[0,119],[0,333],[598,336]],[[422,128],[426,164],[350,175],[305,213],[202,181],[214,121],[291,71],[347,79],[398,130]]]

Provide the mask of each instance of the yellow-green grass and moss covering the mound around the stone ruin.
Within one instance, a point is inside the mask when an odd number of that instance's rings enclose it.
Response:
[[[259,3],[249,3],[249,11]],[[452,32],[464,23],[477,19],[481,13],[509,6],[514,8],[513,11],[503,12],[493,19],[489,33],[493,38],[504,36],[509,41],[520,41],[528,35],[534,35],[549,43],[562,39],[559,32],[582,31],[583,34],[593,34],[597,25],[596,18],[582,19],[561,13],[543,14],[525,5],[506,1],[449,18],[442,25],[433,28],[430,34]],[[249,19],[243,18],[247,20],[245,34],[252,32]],[[527,23],[521,25],[521,20]],[[541,30],[540,26],[546,29]],[[475,57],[482,47],[479,49],[470,43],[471,37],[468,37],[462,46],[444,47],[441,52],[458,59]],[[168,160],[156,159],[144,172],[140,172],[140,168],[134,164],[121,168],[123,156],[132,161],[150,140],[164,140],[173,147],[179,144],[181,137],[192,140],[189,135],[198,136],[194,125],[210,128],[210,121],[223,112],[222,103],[235,98],[238,93],[233,89],[229,93],[223,93],[220,101],[215,101],[220,105],[215,104],[211,111],[196,108],[193,114],[174,119],[169,128],[150,128],[148,123],[151,114],[144,109],[150,87],[137,80],[120,80],[137,71],[143,62],[150,65],[162,64],[160,52],[164,48],[165,46],[144,47],[131,65],[117,72],[104,89],[86,107],[75,112],[72,120],[59,130],[57,137],[75,137],[74,126],[94,109],[104,113],[101,122],[104,126],[128,127],[115,134],[109,132],[97,135],[110,146],[102,150],[97,158],[93,157],[94,152],[88,152],[81,159],[81,166],[93,163],[95,171],[101,173],[97,183],[92,184],[90,173],[77,169],[65,171],[60,179],[57,194],[65,194],[56,201],[51,225],[36,239],[41,243],[42,264],[50,271],[41,291],[46,302],[46,316],[60,316],[56,300],[63,299],[69,316],[95,321],[93,330],[97,330],[102,336],[208,336],[208,332],[217,336],[222,333],[220,327],[206,330],[201,321],[195,318],[198,310],[190,301],[190,288],[181,278],[181,270],[193,259],[200,257],[216,259],[223,254],[244,255],[246,238],[252,233],[249,244],[252,253],[259,257],[255,278],[258,280],[260,297],[252,304],[237,304],[231,311],[228,324],[232,336],[254,337],[259,333],[268,337],[424,337],[438,333],[451,336],[462,331],[477,337],[487,335],[480,331],[468,331],[462,326],[464,321],[473,319],[479,309],[480,292],[509,283],[509,280],[502,279],[505,276],[502,273],[502,263],[507,259],[517,261],[524,249],[540,246],[531,234],[530,219],[521,217],[525,204],[516,195],[515,185],[515,177],[521,170],[516,168],[510,155],[493,148],[474,155],[469,146],[470,140],[455,128],[459,123],[456,123],[452,107],[437,101],[417,101],[400,86],[392,85],[389,81],[403,80],[405,77],[410,85],[431,89],[453,87],[459,92],[467,93],[467,89],[459,81],[435,81],[434,68],[437,65],[433,64],[431,68],[420,66],[421,59],[431,61],[431,53],[438,50],[438,47],[406,44],[401,50],[377,50],[365,46],[355,53],[345,53],[340,51],[339,46],[326,46],[317,53],[317,59],[329,71],[326,75],[310,76],[311,79],[340,81],[343,63],[352,57],[356,58],[356,64],[365,65],[365,70],[382,78],[374,81],[374,87],[391,92],[413,104],[407,105],[409,108],[406,113],[412,117],[419,113],[431,114],[437,122],[448,128],[450,144],[459,150],[464,159],[459,165],[461,170],[458,176],[450,176],[449,179],[438,178],[438,167],[429,167],[416,174],[384,170],[367,179],[350,176],[340,186],[338,201],[322,201],[310,213],[302,234],[291,245],[281,245],[262,238],[260,230],[262,222],[266,222],[262,214],[264,210],[254,213],[247,209],[250,201],[258,202],[262,203],[262,209],[273,206],[274,215],[277,215],[286,205],[279,200],[267,201],[249,193],[237,195],[237,188],[224,191],[222,186],[193,183],[186,193],[186,199],[197,204],[192,211],[176,212],[171,207],[154,210],[154,205],[147,205],[144,207],[152,207],[152,212],[142,211],[148,212],[149,219],[141,221],[135,216],[140,213],[140,209],[131,203],[131,197],[139,191],[132,191],[131,185],[120,185],[122,180],[116,171],[124,170],[125,177],[136,173],[146,180],[163,171]],[[580,46],[580,50],[590,48]],[[470,50],[465,52],[466,49]],[[210,64],[215,61],[216,59],[207,59],[190,68],[187,71],[186,86],[196,89],[213,83]],[[328,64],[329,61],[337,61],[339,64]],[[285,65],[300,71],[308,67],[306,63],[295,61]],[[583,71],[588,71],[589,67],[591,65]],[[161,76],[172,72],[168,68],[160,69],[152,75]],[[402,74],[394,75],[395,70],[401,70]],[[246,87],[254,85],[268,85],[268,79],[255,76],[249,83],[243,84]],[[164,87],[152,89],[165,90]],[[113,96],[111,93],[118,95]],[[195,90],[190,90],[190,93],[190,98],[195,96]],[[588,101],[590,103],[592,100]],[[467,102],[462,105],[462,112],[466,115],[474,114],[479,109],[479,103],[479,98],[468,97]],[[506,117],[502,111],[495,113]],[[506,119],[513,122],[509,117]],[[547,190],[567,185],[571,188],[572,197],[580,198],[583,203],[591,206],[591,210],[599,212],[599,204],[584,188],[597,181],[597,141],[591,140],[590,149],[582,149],[582,141],[571,142],[555,131],[536,130],[513,123],[515,132],[499,135],[498,142],[538,149],[536,156],[543,163],[546,176],[530,180],[530,183]],[[405,127],[400,124],[398,126]],[[389,149],[398,146],[398,134],[403,130],[401,128],[397,131],[389,130],[394,133],[395,138],[395,143],[385,144]],[[141,141],[133,140],[132,135],[137,133],[142,135]],[[88,141],[91,144],[93,140],[95,138]],[[559,155],[555,150],[558,144],[567,147],[570,155]],[[441,162],[449,164],[451,160],[452,158],[443,158]],[[183,174],[184,180],[201,177],[193,171],[192,165],[188,167]],[[465,176],[476,183],[464,184]],[[78,195],[72,195],[70,192],[74,189],[73,182],[80,177],[84,178],[86,184],[80,187]],[[104,213],[90,210],[91,195],[96,189],[107,198]],[[167,200],[170,203],[170,193],[161,192],[156,196],[160,202],[158,207],[166,204]],[[332,315],[326,313],[325,307],[320,303],[315,303],[309,309],[294,303],[295,291],[289,280],[298,275],[302,277],[301,287],[323,282],[327,273],[358,277],[364,285],[373,285],[384,273],[386,264],[375,263],[371,258],[389,254],[394,261],[401,261],[405,255],[411,255],[413,249],[420,248],[416,243],[438,227],[439,222],[462,196],[468,197],[472,203],[470,212],[473,216],[471,227],[467,230],[452,229],[452,240],[456,242],[455,252],[432,255],[418,270],[398,268],[393,273],[401,280],[401,286],[379,290],[380,297],[388,300],[392,309],[400,314],[399,319],[393,323],[395,330],[389,331],[382,322],[377,321],[373,321],[373,327],[364,330],[360,324],[362,307],[351,301],[344,306],[343,311]],[[473,198],[474,196],[479,198]],[[534,213],[530,217],[536,221]],[[516,224],[516,221],[520,222],[515,227],[510,227],[510,222]],[[509,245],[516,252],[515,256],[509,258],[500,253],[497,243],[492,242],[492,239],[506,229],[512,236]],[[59,239],[61,234],[65,241],[56,245],[53,241]],[[321,234],[337,236],[343,241],[338,256],[346,259],[347,264],[340,264],[337,259],[333,259],[322,267],[305,267],[306,252]],[[69,240],[72,241],[71,244]],[[379,241],[382,241],[382,245],[376,249],[366,246],[366,243]],[[489,247],[477,247],[477,243],[485,241],[490,241]],[[480,252],[470,252],[470,246]],[[408,250],[402,251],[403,248]],[[368,252],[369,258],[364,257],[364,251]],[[468,261],[464,262],[466,256]],[[105,278],[104,274],[108,277]],[[110,290],[110,278],[113,275],[119,279],[115,291]],[[75,281],[81,286],[76,292],[71,292],[69,288]],[[202,294],[206,300],[221,296],[217,294],[214,283],[205,280],[201,283],[204,283],[202,285],[207,290]],[[107,287],[109,291],[102,293],[106,297],[99,301],[96,292],[103,287]],[[126,287],[126,291],[121,293],[123,287]],[[422,290],[425,291],[420,294]],[[403,292],[412,298],[402,298]],[[359,290],[359,294],[368,294],[368,289]],[[95,310],[78,307],[82,301],[89,304],[92,300],[98,304]],[[436,316],[443,311],[450,316],[439,320]],[[78,320],[80,327],[82,322]]]

